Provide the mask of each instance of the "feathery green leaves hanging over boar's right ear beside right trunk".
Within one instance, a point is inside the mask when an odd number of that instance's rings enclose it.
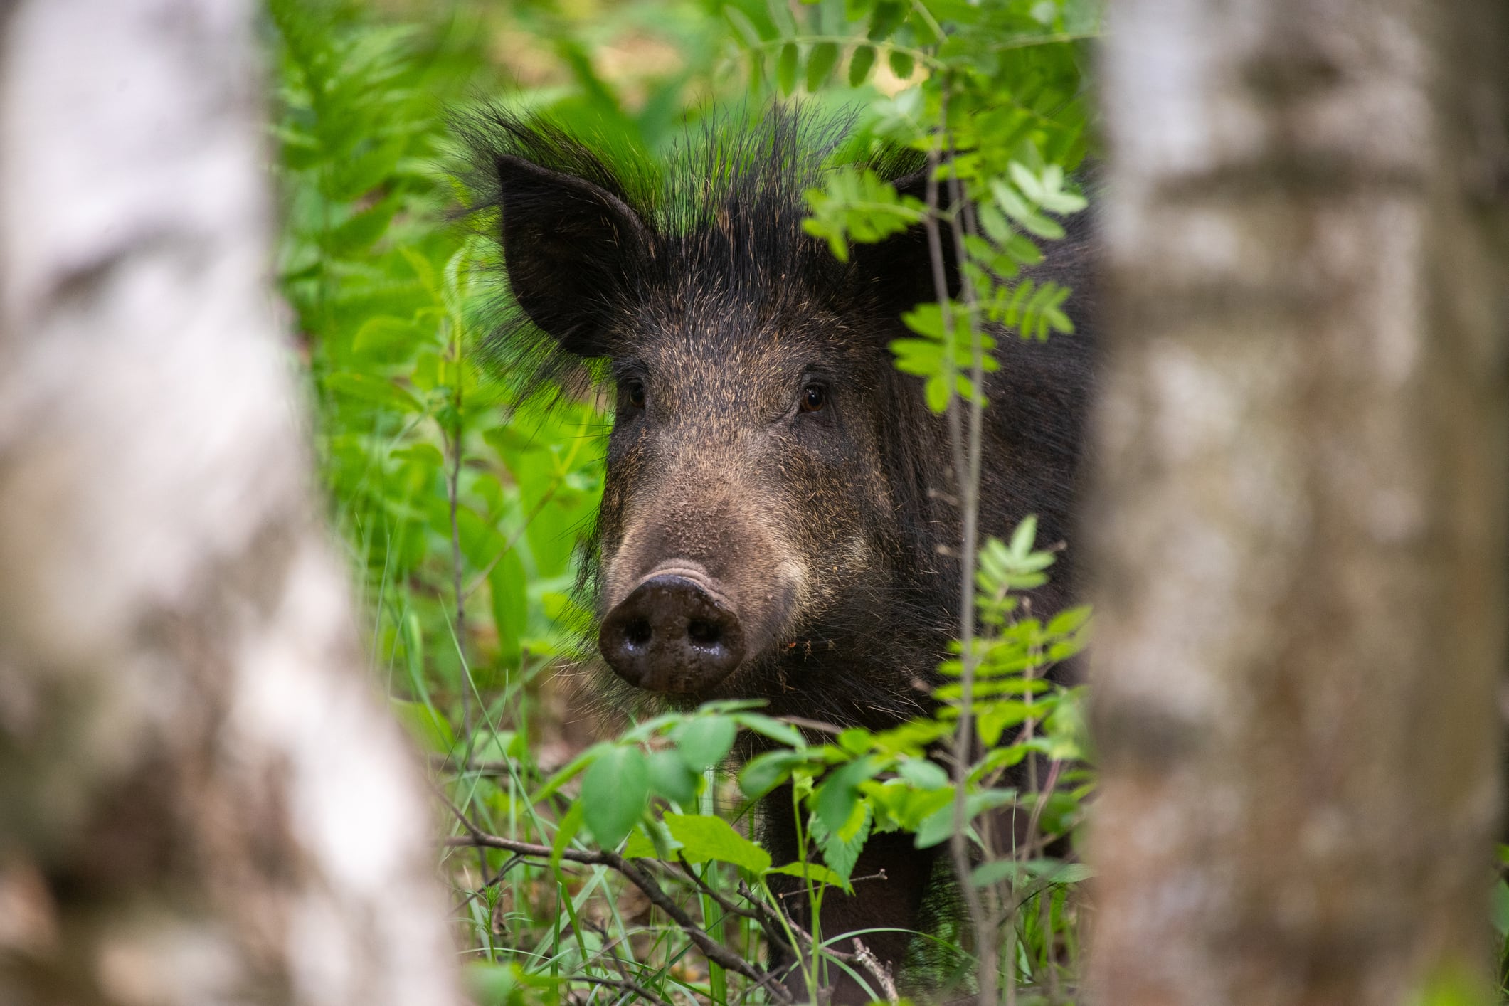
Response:
[[[1038,240],[1064,237],[1059,217],[1085,207],[1068,172],[1086,149],[1082,66],[1099,17],[1091,0],[818,0],[800,18],[771,5],[765,20],[729,8],[751,81],[774,57],[780,94],[792,94],[803,68],[816,92],[844,53],[859,89],[886,54],[892,80],[869,92],[865,130],[874,143],[910,146],[942,164],[936,190],[924,205],[898,199],[871,173],[837,172],[807,193],[806,226],[847,259],[848,241],[878,241],[927,217],[937,223],[939,240],[963,262],[963,296],[910,314],[920,338],[892,345],[898,367],[925,379],[937,412],[955,395],[982,401],[987,330],[1038,339],[1071,330],[1062,312],[1070,291],[1019,273],[1041,259]],[[907,84],[899,90],[898,78]]]

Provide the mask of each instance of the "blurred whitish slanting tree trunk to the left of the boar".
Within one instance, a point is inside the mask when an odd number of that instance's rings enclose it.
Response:
[[[457,1003],[273,318],[255,5],[6,11],[0,1003]]]

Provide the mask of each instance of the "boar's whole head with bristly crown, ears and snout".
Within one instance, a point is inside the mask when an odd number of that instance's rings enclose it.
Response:
[[[789,112],[688,146],[653,184],[496,112],[468,139],[518,308],[496,338],[611,382],[590,584],[602,658],[643,689],[622,697],[920,709],[957,603],[946,440],[887,350],[934,299],[920,231],[848,262],[807,235],[831,134]],[[920,195],[916,160],[868,166]]]

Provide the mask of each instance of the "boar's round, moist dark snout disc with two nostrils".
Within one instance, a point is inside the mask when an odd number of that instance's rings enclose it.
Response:
[[[656,692],[712,688],[744,659],[733,602],[694,570],[646,576],[614,605],[598,647],[623,680]]]

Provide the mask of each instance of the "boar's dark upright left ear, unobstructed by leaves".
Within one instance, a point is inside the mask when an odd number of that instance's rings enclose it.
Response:
[[[496,158],[509,287],[563,350],[602,356],[614,303],[649,255],[650,234],[619,196],[521,157]]]

